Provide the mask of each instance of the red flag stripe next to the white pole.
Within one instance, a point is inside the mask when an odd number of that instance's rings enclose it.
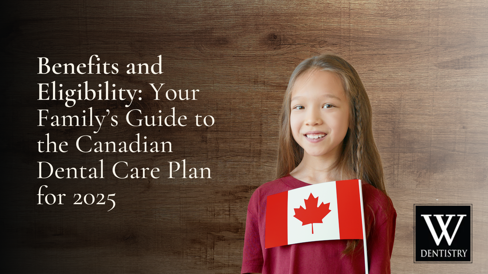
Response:
[[[341,239],[362,239],[363,221],[358,180],[336,181],[339,235]]]

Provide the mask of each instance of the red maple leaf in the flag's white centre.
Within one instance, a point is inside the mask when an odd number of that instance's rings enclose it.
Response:
[[[302,221],[302,225],[312,224],[312,234],[313,234],[313,223],[322,223],[322,219],[329,214],[330,203],[322,203],[319,207],[317,204],[319,203],[319,196],[316,198],[312,196],[308,196],[308,199],[304,199],[305,201],[305,208],[300,206],[300,208],[295,208],[295,215],[293,217]]]

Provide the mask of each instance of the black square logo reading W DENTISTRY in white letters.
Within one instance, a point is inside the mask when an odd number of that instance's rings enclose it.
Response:
[[[472,263],[471,204],[415,204],[415,263]]]

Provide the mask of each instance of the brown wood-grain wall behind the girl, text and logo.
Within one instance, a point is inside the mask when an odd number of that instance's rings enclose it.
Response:
[[[387,191],[397,210],[392,273],[486,273],[488,2],[466,1],[12,1],[3,16],[5,266],[9,273],[240,273],[246,207],[273,179],[278,118],[294,67],[333,52],[364,81]],[[39,75],[54,63],[119,63],[116,75]],[[128,75],[125,64],[156,62],[163,74]],[[52,63],[51,63],[52,62]],[[141,89],[142,100],[40,101],[38,83],[109,81]],[[199,89],[195,101],[153,100],[148,83]],[[160,95],[161,96],[161,95]],[[49,115],[118,115],[117,127],[39,127]],[[211,115],[215,125],[131,127],[129,109],[165,117]],[[95,115],[95,114],[94,114]],[[68,153],[39,153],[45,134]],[[79,136],[170,141],[172,153],[81,153]],[[89,143],[84,143],[85,145]],[[104,179],[39,179],[55,167],[105,163]],[[168,161],[212,178],[168,179]],[[160,167],[158,179],[117,179],[111,165]],[[181,162],[180,162],[181,163]],[[181,176],[181,175],[180,175]],[[65,193],[37,205],[38,190]],[[116,193],[116,207],[74,205],[74,193]],[[69,202],[71,201],[71,202]],[[414,264],[413,204],[473,204],[473,263]]]

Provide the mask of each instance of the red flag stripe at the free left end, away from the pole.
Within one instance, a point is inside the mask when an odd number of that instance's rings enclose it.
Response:
[[[267,197],[264,247],[288,244],[288,192]]]

